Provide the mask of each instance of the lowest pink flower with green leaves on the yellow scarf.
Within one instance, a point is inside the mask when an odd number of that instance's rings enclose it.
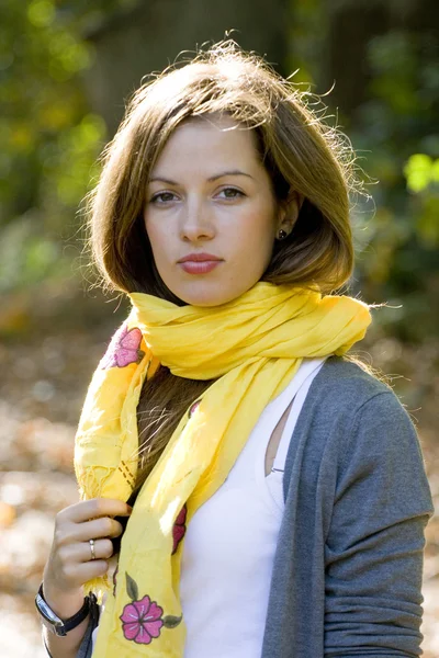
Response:
[[[137,583],[126,575],[126,591],[132,599],[123,609],[119,617],[122,621],[122,631],[125,639],[134,640],[137,644],[150,644],[153,639],[159,637],[161,627],[175,628],[183,619],[183,615],[176,617],[167,615],[162,617],[164,609],[151,601],[148,594],[138,599]]]

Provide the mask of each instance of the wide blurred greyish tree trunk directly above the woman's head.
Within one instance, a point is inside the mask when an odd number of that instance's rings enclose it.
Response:
[[[256,50],[280,72],[288,54],[289,0],[151,0],[128,12],[113,13],[88,38],[95,63],[86,75],[92,109],[112,135],[124,102],[150,71],[162,70],[182,50],[230,34],[241,47]],[[188,53],[190,55],[190,53]]]

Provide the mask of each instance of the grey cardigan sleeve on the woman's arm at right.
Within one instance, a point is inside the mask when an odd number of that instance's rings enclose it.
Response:
[[[413,658],[434,508],[415,428],[381,392],[352,419],[325,542],[325,657]]]

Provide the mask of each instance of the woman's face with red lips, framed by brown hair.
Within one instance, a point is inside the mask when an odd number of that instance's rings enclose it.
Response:
[[[229,117],[179,126],[154,167],[146,198],[158,273],[194,306],[225,304],[252,287],[284,228],[255,136]]]

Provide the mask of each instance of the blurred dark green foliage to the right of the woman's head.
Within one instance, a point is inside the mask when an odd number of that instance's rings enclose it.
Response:
[[[437,334],[439,321],[437,34],[395,30],[374,37],[368,65],[369,98],[352,117],[351,135],[378,184],[360,269],[369,298],[403,306],[389,330],[420,341]]]

